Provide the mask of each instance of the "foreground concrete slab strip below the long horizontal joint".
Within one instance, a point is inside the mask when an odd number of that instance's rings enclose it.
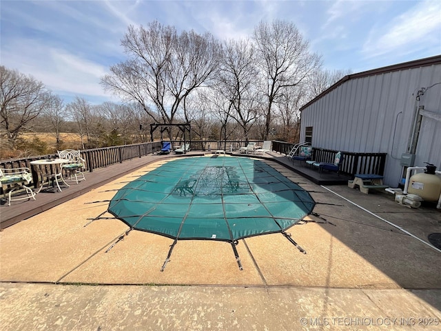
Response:
[[[1,283],[0,329],[441,330],[433,305],[441,290]]]

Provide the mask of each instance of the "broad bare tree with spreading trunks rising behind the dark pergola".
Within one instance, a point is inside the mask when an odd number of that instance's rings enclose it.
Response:
[[[174,27],[158,21],[147,29],[130,26],[122,45],[129,59],[110,68],[112,74],[103,77],[103,86],[139,103],[152,119],[159,114],[170,124],[183,100],[212,77],[220,57],[220,44],[212,34],[177,34]]]

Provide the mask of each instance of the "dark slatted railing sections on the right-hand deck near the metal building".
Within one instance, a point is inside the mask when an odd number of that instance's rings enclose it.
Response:
[[[273,141],[273,150],[281,154],[289,154],[294,144],[284,141]],[[338,150],[312,148],[312,158],[317,162],[334,162]],[[340,173],[354,177],[355,174],[384,174],[387,153],[345,152]]]

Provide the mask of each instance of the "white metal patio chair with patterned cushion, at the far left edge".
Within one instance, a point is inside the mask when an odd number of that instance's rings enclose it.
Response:
[[[3,191],[3,199],[8,200],[8,205],[11,205],[11,201],[18,201],[24,199],[34,199],[35,192],[28,188],[28,185],[32,181],[32,174],[29,168],[15,168],[6,169],[0,168],[0,183],[1,190]],[[24,189],[26,192],[26,197],[13,197],[12,192]],[[8,192],[8,199],[6,199],[6,192]]]

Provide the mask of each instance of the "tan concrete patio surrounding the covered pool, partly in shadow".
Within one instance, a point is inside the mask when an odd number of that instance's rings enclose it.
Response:
[[[427,240],[440,210],[317,185],[278,158],[265,154],[329,222],[309,215],[289,230],[307,254],[282,234],[247,238],[239,270],[228,243],[178,241],[161,272],[172,239],[136,230],[105,252],[128,227],[90,220],[169,160],[141,158],[0,232],[1,330],[441,330],[441,252]]]

